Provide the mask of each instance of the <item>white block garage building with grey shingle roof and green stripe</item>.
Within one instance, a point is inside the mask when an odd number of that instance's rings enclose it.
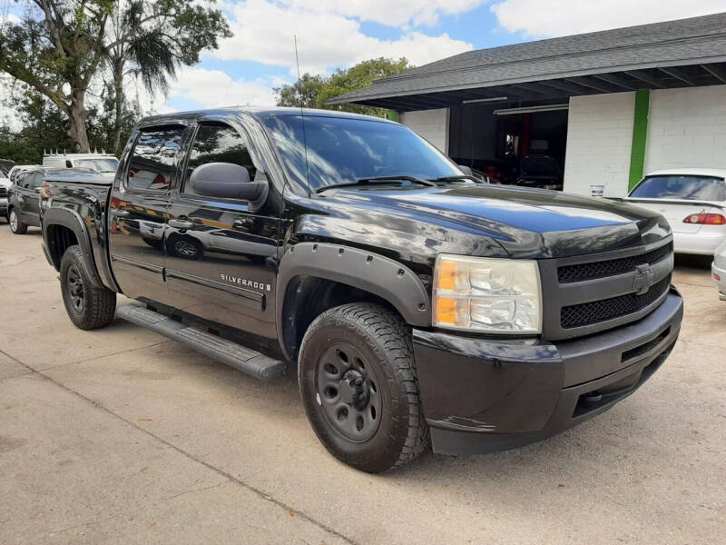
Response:
[[[495,183],[623,197],[646,170],[722,167],[724,52],[726,13],[703,15],[467,51],[326,104],[391,110]]]

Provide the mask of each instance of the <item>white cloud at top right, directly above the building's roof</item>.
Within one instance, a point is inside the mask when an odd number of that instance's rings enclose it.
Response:
[[[508,32],[554,37],[714,14],[724,7],[723,0],[504,0],[491,9]]]

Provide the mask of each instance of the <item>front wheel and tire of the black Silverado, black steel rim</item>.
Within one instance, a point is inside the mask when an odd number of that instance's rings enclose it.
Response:
[[[426,449],[411,332],[386,307],[350,303],[320,314],[300,346],[298,381],[313,430],[348,465],[380,473]]]

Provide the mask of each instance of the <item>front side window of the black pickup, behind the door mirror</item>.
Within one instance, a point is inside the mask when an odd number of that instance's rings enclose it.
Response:
[[[246,139],[228,124],[203,123],[191,145],[183,193],[195,194],[189,179],[194,169],[206,163],[234,163],[247,169],[254,180],[257,169],[252,163]]]

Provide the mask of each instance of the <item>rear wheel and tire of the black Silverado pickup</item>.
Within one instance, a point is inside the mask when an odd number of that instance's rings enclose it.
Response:
[[[65,312],[76,327],[93,330],[113,320],[116,293],[93,285],[81,247],[77,244],[70,246],[61,259],[61,292]]]

